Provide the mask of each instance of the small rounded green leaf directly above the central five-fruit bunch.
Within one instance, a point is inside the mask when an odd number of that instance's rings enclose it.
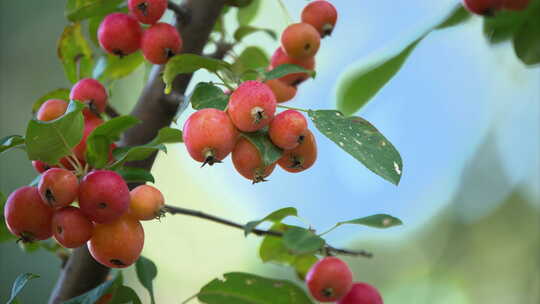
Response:
[[[242,76],[242,80],[256,80],[259,70],[264,71],[270,64],[268,55],[259,47],[249,46],[245,48],[233,63],[232,70]]]

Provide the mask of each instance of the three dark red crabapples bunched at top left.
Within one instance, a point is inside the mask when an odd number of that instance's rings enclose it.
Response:
[[[167,9],[167,0],[129,0],[129,14],[112,13],[103,19],[98,29],[101,47],[110,54],[127,56],[139,49],[153,64],[165,64],[182,50],[178,30],[158,22]],[[140,23],[150,27],[143,30]]]

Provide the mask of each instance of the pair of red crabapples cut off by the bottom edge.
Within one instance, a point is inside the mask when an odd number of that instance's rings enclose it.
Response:
[[[354,283],[349,266],[336,257],[326,257],[311,266],[306,285],[311,296],[322,303],[383,304],[379,291],[367,283]]]

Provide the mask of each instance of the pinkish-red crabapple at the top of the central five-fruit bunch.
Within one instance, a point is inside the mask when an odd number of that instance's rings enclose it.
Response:
[[[232,94],[227,112],[234,125],[244,132],[266,127],[276,112],[276,96],[266,84],[246,81]]]

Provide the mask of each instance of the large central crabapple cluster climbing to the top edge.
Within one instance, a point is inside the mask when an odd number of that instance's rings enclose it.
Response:
[[[294,64],[308,70],[315,68],[315,55],[321,38],[330,35],[337,21],[337,11],[326,0],[308,4],[302,22],[290,25],[281,36],[281,46],[274,52],[268,70]],[[232,154],[234,167],[253,183],[264,181],[276,164],[288,172],[309,169],[317,159],[315,137],[304,115],[297,110],[276,113],[277,104],[294,98],[297,86],[309,78],[307,73],[293,73],[266,82],[249,80],[228,92],[225,111],[202,109],[184,124],[184,142],[191,157],[213,165]],[[250,133],[262,134],[283,156],[275,163],[265,163],[250,140]]]

